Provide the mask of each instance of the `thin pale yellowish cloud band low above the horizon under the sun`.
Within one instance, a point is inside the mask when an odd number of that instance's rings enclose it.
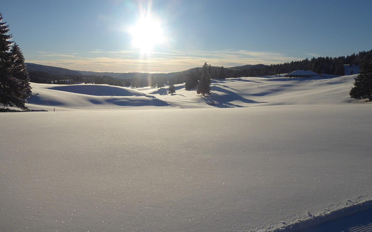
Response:
[[[200,67],[204,62],[212,66],[240,66],[247,64],[275,64],[301,60],[276,52],[252,52],[248,50],[219,51],[170,51],[141,55],[134,51],[93,50],[97,57],[77,57],[70,54],[51,53],[40,55],[45,59],[32,61],[50,66],[61,66],[80,71],[96,72],[151,72],[169,73]],[[55,59],[50,59],[54,56]],[[81,54],[80,54],[81,56]]]

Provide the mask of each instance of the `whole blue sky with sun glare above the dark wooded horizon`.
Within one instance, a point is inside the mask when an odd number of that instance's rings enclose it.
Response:
[[[2,0],[0,9],[26,62],[163,73],[371,50],[371,11],[371,0]],[[156,24],[136,43],[144,17]]]

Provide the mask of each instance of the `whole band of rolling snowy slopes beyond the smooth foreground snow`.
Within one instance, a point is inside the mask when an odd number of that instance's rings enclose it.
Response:
[[[32,83],[31,109],[56,111],[100,109],[231,108],[267,105],[349,104],[356,75],[334,78],[229,78],[212,81],[206,97],[176,85],[176,94],[163,88],[124,88],[109,85],[47,85]],[[169,106],[169,107],[167,107]]]

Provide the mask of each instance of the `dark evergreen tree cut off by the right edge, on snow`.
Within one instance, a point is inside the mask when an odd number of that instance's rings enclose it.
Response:
[[[350,90],[350,97],[372,101],[372,59],[360,65],[360,71],[355,78],[355,87]]]

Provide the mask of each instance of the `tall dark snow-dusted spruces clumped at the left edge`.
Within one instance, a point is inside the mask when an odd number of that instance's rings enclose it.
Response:
[[[7,35],[9,26],[2,23],[2,20],[3,15],[0,13],[0,104],[26,110],[26,98],[31,95],[31,87],[24,58],[19,47],[12,46],[12,35]]]

